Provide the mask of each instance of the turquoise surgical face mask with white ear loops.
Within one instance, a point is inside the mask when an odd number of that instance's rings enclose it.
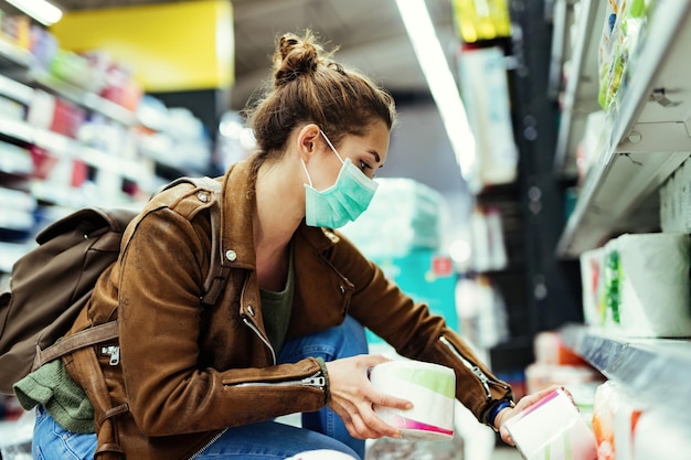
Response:
[[[343,161],[323,131],[321,136],[343,165],[336,183],[319,191],[312,186],[307,167],[300,159],[309,181],[309,184],[305,184],[305,220],[312,227],[340,228],[368,208],[379,184],[360,171],[349,158]]]

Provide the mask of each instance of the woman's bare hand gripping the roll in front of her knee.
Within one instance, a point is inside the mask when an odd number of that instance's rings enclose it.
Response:
[[[350,435],[359,439],[384,436],[400,438],[396,427],[374,414],[373,405],[411,409],[413,404],[380,392],[368,378],[368,371],[389,361],[382,355],[359,355],[327,363],[331,397],[329,407],[338,414]]]

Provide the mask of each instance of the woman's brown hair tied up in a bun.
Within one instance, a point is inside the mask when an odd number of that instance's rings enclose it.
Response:
[[[389,93],[369,77],[331,60],[310,31],[288,33],[274,53],[273,86],[247,109],[257,147],[265,157],[281,150],[293,129],[317,124],[334,143],[344,135],[362,136],[376,119],[389,129],[395,107]]]

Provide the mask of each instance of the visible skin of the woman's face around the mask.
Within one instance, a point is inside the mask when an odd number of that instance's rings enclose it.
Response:
[[[376,170],[384,164],[389,152],[389,128],[383,121],[372,124],[364,136],[347,135],[338,146],[333,146],[343,161],[347,158],[368,178],[373,178]],[[325,190],[336,183],[342,163],[322,137],[322,149],[318,161],[310,161],[312,186]]]

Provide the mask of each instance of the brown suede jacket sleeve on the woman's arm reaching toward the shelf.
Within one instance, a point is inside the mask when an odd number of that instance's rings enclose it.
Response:
[[[511,387],[480,362],[444,318],[403,293],[347,238],[341,236],[330,257],[355,287],[350,314],[402,356],[451,367],[456,397],[479,421],[488,424],[489,413],[502,399],[513,400]]]

